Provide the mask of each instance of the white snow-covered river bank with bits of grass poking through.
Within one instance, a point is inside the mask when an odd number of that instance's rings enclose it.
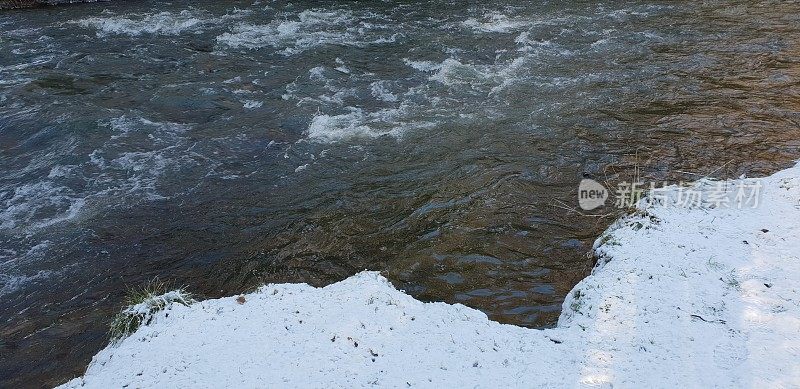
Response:
[[[800,166],[760,183],[755,208],[643,205],[618,221],[554,329],[364,272],[174,305],[66,386],[800,386]]]

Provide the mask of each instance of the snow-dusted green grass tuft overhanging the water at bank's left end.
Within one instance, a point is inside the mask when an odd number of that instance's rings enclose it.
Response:
[[[167,290],[167,286],[155,279],[140,288],[130,289],[125,297],[126,308],[114,316],[109,335],[117,343],[134,333],[142,324],[148,325],[156,313],[173,303],[188,306],[195,300],[184,289]]]

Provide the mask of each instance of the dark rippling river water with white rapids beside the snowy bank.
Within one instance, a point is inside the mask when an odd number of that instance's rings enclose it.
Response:
[[[371,269],[552,326],[614,215],[570,211],[581,178],[800,156],[798,2],[484,3],[0,14],[0,386],[80,374],[155,277]]]

